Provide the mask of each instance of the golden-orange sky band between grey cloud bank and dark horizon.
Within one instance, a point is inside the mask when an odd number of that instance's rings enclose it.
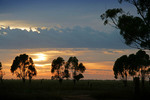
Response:
[[[10,72],[10,66],[16,56],[26,53],[34,61],[37,69],[37,76],[34,79],[50,79],[51,63],[57,57],[63,57],[65,61],[70,56],[76,56],[79,63],[82,62],[86,67],[84,79],[114,79],[113,64],[114,61],[124,54],[133,53],[135,50],[113,50],[113,49],[95,49],[87,48],[39,48],[39,49],[0,49],[0,61],[5,71],[4,79],[16,78]]]

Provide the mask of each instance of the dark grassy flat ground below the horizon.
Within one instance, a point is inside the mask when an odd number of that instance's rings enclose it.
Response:
[[[4,80],[0,83],[0,100],[135,100],[150,96],[150,85],[140,87],[135,95],[133,81],[124,87],[122,81],[81,80],[73,84],[65,80],[60,85],[56,80]]]

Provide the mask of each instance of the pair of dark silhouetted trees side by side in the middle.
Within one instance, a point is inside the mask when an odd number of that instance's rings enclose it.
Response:
[[[81,78],[84,78],[82,73],[84,73],[85,70],[86,68],[82,63],[78,64],[76,57],[70,57],[67,62],[65,62],[62,57],[58,57],[52,61],[51,73],[54,74],[52,79],[59,79],[60,83],[62,83],[63,78],[69,79],[71,74],[74,83],[79,81]]]

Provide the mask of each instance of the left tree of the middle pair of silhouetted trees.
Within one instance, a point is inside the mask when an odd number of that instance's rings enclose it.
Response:
[[[60,83],[62,82],[64,76],[64,59],[58,57],[52,61],[51,73],[54,73],[52,76],[53,79],[59,79]]]

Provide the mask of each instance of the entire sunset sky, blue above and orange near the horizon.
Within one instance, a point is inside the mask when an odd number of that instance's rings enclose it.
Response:
[[[119,30],[100,18],[107,9],[135,8],[118,0],[0,0],[0,61],[6,75],[14,58],[26,53],[38,69],[36,78],[50,78],[53,59],[77,56],[87,70],[85,79],[114,79],[114,61],[134,53]]]

